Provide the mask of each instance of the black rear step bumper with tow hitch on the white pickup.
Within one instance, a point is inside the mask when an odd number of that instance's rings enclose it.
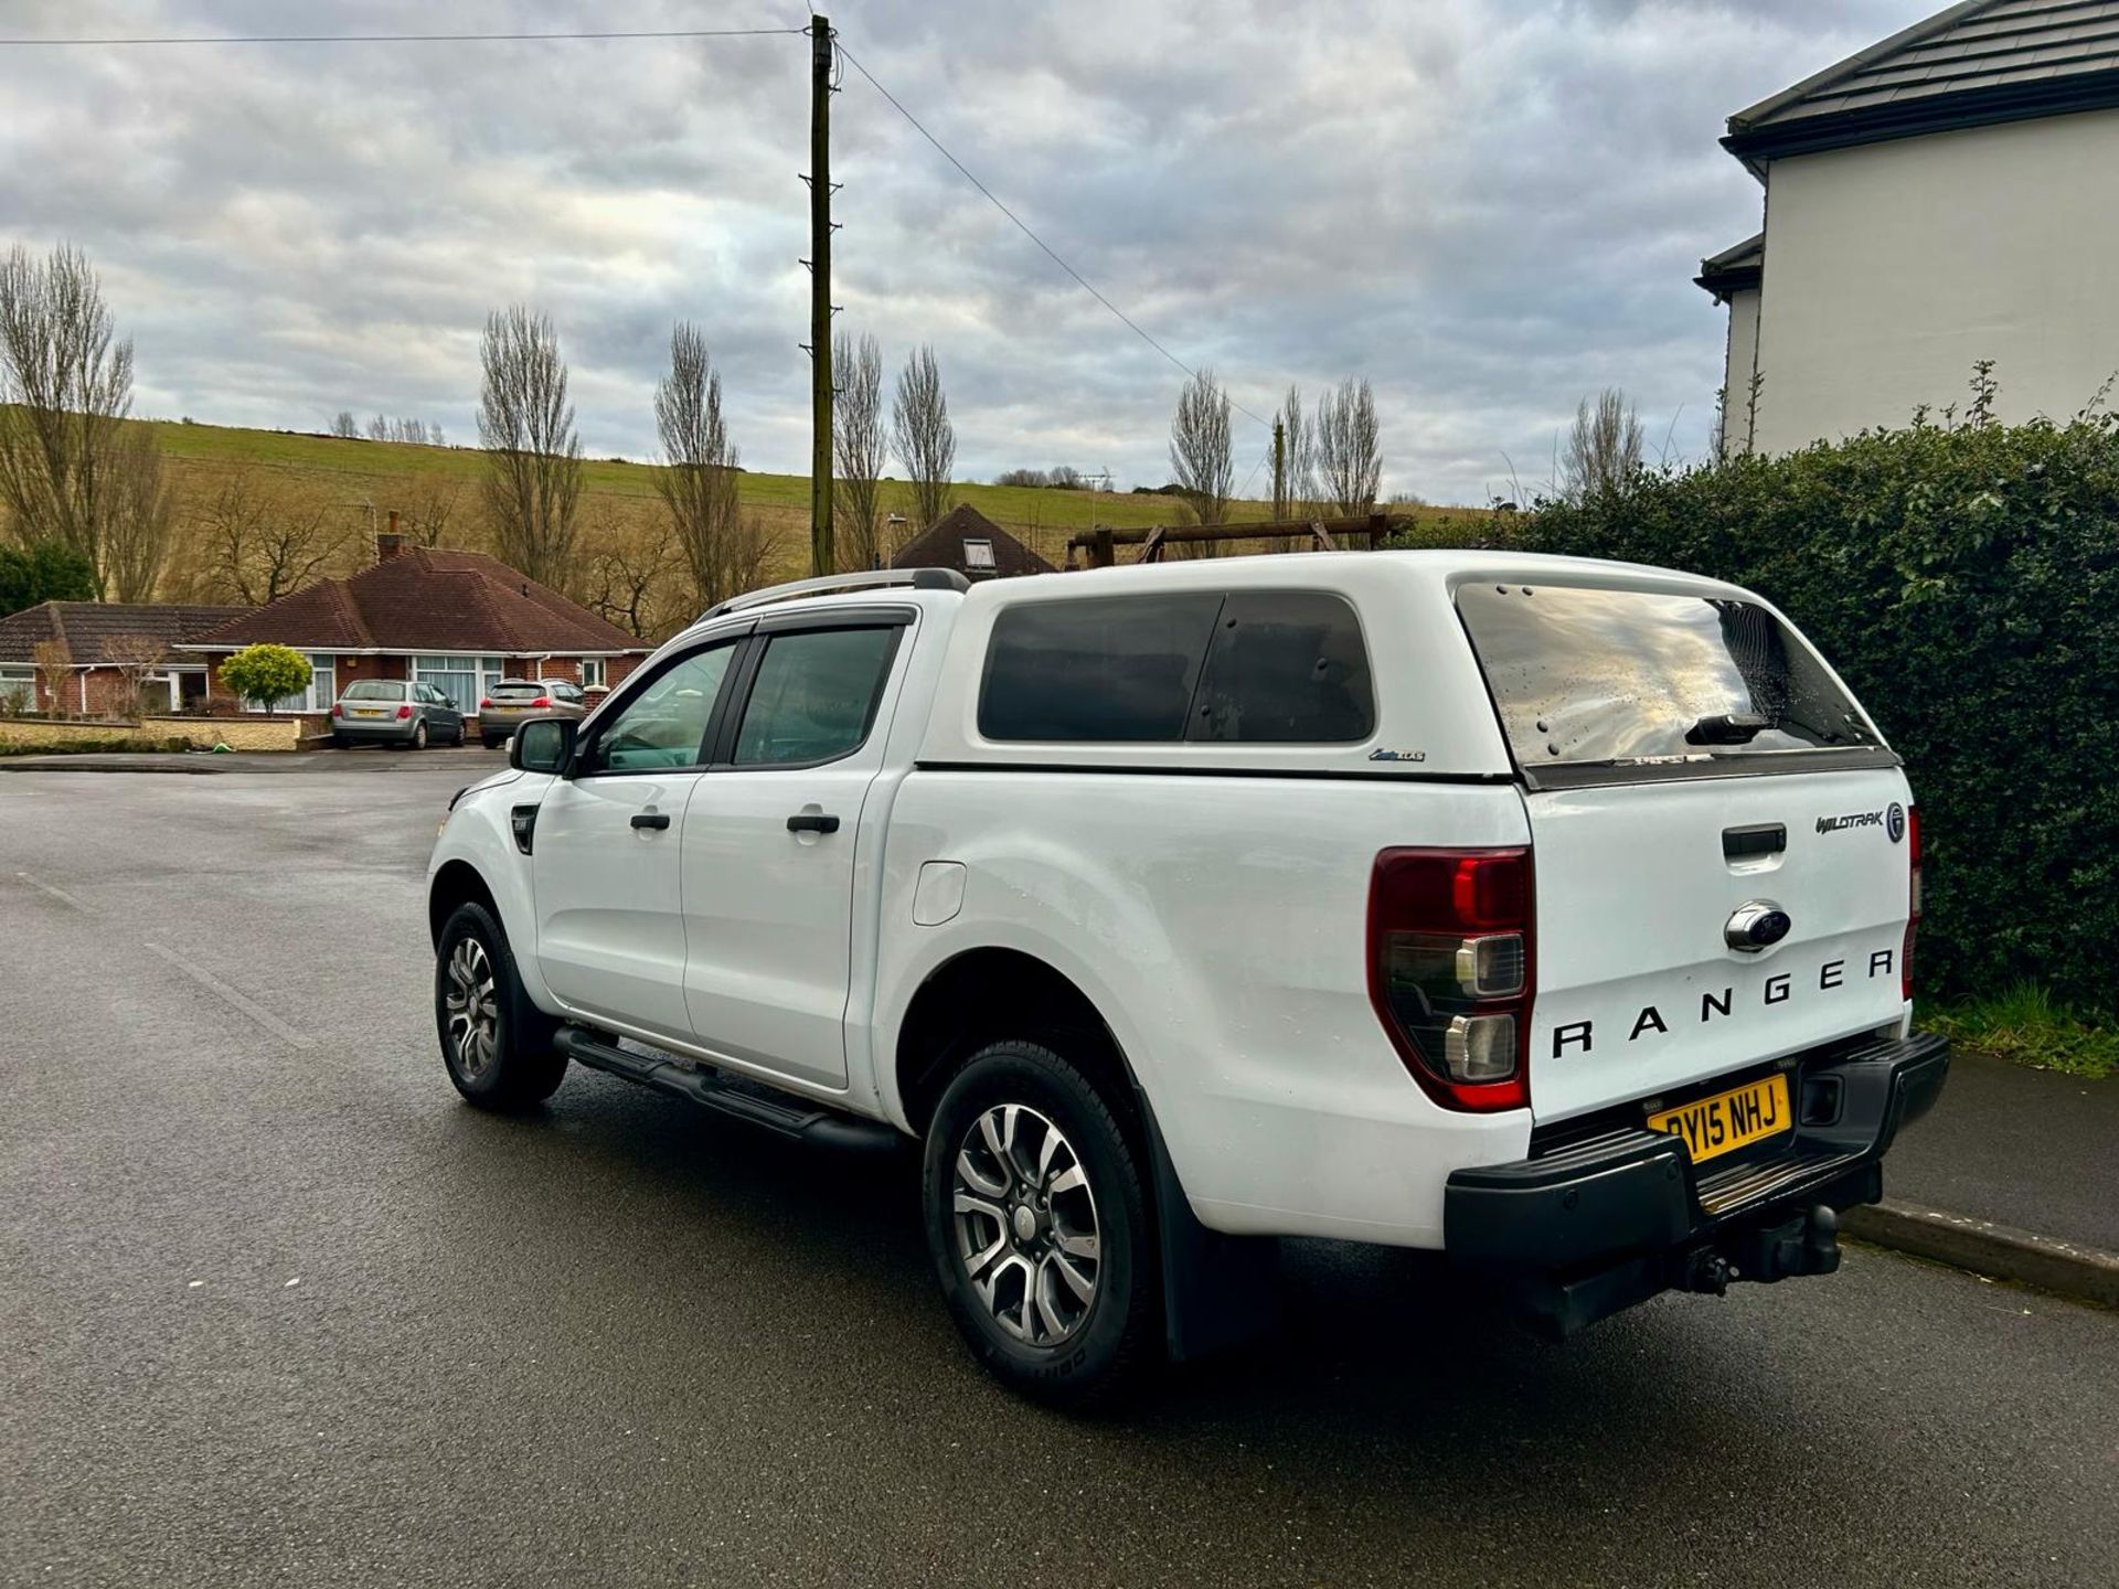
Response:
[[[1509,1278],[1562,1337],[1659,1290],[1829,1273],[1837,1210],[1884,1195],[1884,1153],[1947,1072],[1949,1040],[1926,1034],[1803,1059],[1788,1076],[1795,1131],[1721,1170],[1642,1125],[1458,1170],[1443,1242],[1454,1261]]]

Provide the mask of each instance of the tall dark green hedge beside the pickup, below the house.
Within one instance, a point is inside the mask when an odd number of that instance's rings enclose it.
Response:
[[[1509,544],[1735,581],[1905,756],[1924,994],[2119,1011],[2119,424],[1916,424],[1538,502]]]

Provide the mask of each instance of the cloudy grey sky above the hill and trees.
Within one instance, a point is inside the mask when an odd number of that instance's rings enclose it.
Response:
[[[1731,110],[1941,0],[839,0],[841,42],[1233,400],[1375,383],[1386,487],[1534,489],[1583,392],[1697,456],[1759,227]],[[0,32],[801,28],[803,0],[8,0]],[[1168,479],[1182,375],[845,68],[835,299],[941,358],[958,472]],[[553,316],[591,456],[653,453],[674,320],[744,460],[807,464],[807,44],[0,47],[0,246],[89,250],[138,409],[475,434],[487,309]],[[1269,432],[1235,415],[1237,477]],[[1263,494],[1261,470],[1250,494]]]

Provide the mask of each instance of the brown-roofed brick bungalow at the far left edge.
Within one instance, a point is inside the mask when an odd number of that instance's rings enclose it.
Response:
[[[129,710],[121,650],[131,640],[159,646],[144,680],[150,710],[206,710],[208,665],[178,650],[208,629],[250,612],[246,606],[146,606],[140,602],[38,602],[0,619],[0,706],[15,712],[121,716]],[[53,695],[38,676],[38,646],[66,650],[66,682]]]

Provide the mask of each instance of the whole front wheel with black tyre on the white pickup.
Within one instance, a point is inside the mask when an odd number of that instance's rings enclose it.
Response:
[[[434,947],[434,1030],[456,1091],[479,1108],[542,1104],[566,1078],[557,1021],[523,992],[494,913],[458,905]]]

